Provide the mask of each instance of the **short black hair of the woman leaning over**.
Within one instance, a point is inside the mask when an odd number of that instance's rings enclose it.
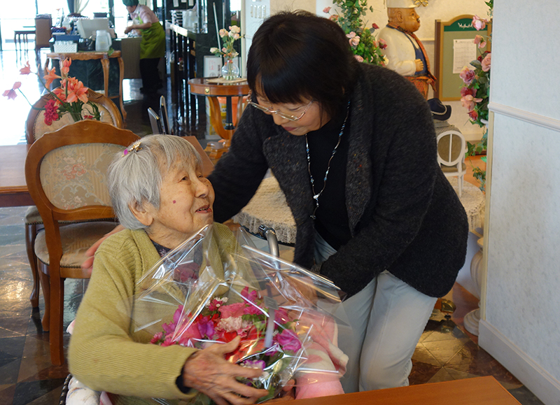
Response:
[[[283,12],[267,18],[255,33],[247,80],[253,93],[272,104],[313,99],[332,117],[346,106],[358,63],[335,22],[302,10]]]

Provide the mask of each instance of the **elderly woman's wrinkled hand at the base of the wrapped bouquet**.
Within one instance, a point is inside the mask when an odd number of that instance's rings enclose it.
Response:
[[[229,343],[214,344],[190,356],[183,367],[183,384],[208,395],[218,405],[254,404],[267,395],[267,390],[258,390],[235,379],[256,378],[262,374],[260,369],[241,367],[224,358],[239,346],[240,340],[237,336]]]

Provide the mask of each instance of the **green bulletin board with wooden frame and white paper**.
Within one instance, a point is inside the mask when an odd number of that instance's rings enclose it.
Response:
[[[441,101],[461,99],[463,79],[459,77],[463,66],[477,59],[480,51],[490,51],[491,41],[486,48],[478,50],[473,43],[476,35],[485,39],[491,34],[491,23],[477,31],[472,27],[472,15],[459,15],[451,21],[435,20],[435,82],[434,97]]]

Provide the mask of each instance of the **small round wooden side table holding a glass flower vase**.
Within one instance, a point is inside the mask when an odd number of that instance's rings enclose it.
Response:
[[[210,101],[210,123],[221,138],[225,139],[227,150],[235,126],[233,125],[232,114],[232,97],[239,97],[237,101],[237,120],[241,117],[243,111],[243,97],[249,92],[249,86],[246,80],[235,83],[215,83],[216,78],[195,78],[188,80],[190,85],[190,92],[199,96],[205,96]],[[218,97],[225,97],[225,125],[222,122],[222,113],[220,108],[220,101]],[[213,151],[214,152],[214,151]],[[213,153],[211,152],[211,153]],[[218,158],[219,156],[211,155],[211,157]]]

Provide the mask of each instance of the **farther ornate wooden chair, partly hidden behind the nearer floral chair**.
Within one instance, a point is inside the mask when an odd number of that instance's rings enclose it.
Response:
[[[118,107],[113,103],[113,101],[111,101],[111,99],[105,97],[103,94],[94,92],[91,89],[87,91],[87,97],[90,101],[97,105],[97,108],[99,108],[102,122],[107,122],[117,128],[123,127],[123,118],[121,118]],[[70,115],[64,114],[60,120],[52,122],[52,125],[45,125],[45,112],[39,110],[38,108],[43,108],[50,99],[52,99],[50,94],[44,94],[35,102],[33,105],[34,108],[31,108],[31,111],[29,111],[25,125],[27,143],[34,143],[38,138],[41,138],[45,132],[56,131],[66,125],[73,124],[73,120]],[[27,208],[24,223],[27,259],[29,260],[29,266],[31,267],[31,273],[34,281],[34,287],[31,291],[31,297],[29,297],[29,299],[31,301],[31,306],[36,308],[39,304],[39,278],[37,257],[33,251],[33,246],[37,231],[38,229],[41,229],[43,225],[43,220],[41,220],[41,215],[39,215],[35,206]]]

